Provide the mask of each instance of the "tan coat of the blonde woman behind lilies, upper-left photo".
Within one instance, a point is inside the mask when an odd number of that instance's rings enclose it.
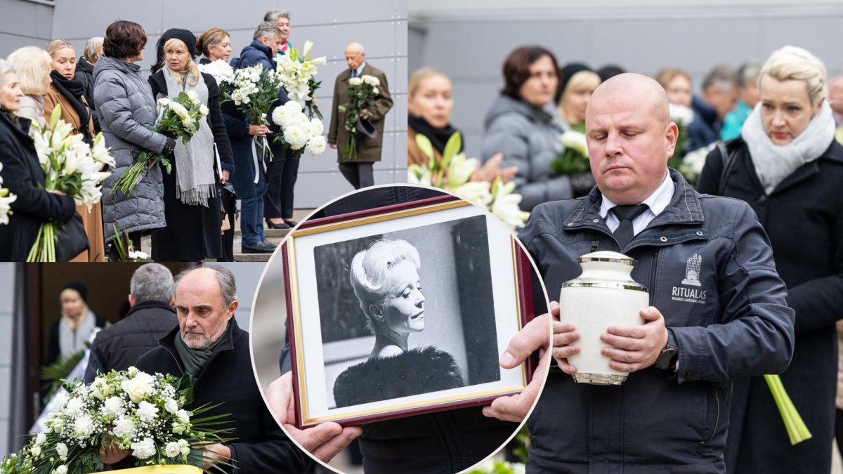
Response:
[[[82,98],[83,104],[88,105],[85,98]],[[62,105],[61,120],[73,126],[73,133],[78,133],[82,127],[81,119],[73,109],[73,106],[67,102],[67,99],[50,84],[50,89],[47,89],[47,94],[44,96],[44,117],[47,121],[50,120],[53,109],[56,104]],[[91,137],[94,137],[94,121],[88,121],[88,130]],[[103,212],[102,203],[97,202],[94,207],[91,207],[90,212],[88,207],[83,205],[76,207],[76,212],[82,216],[82,223],[85,227],[85,234],[88,234],[88,244],[90,249],[82,252],[78,256],[73,257],[70,261],[105,261],[105,235],[103,234]]]

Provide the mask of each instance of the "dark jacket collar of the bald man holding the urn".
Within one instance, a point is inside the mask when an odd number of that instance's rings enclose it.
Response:
[[[665,224],[704,224],[705,216],[702,213],[700,197],[690,187],[688,181],[679,174],[679,171],[670,169],[670,179],[674,180],[674,196],[670,204],[665,207],[662,213],[652,219],[647,228]],[[582,204],[565,221],[565,229],[577,229],[580,227],[598,227],[608,231],[604,219],[600,217],[600,203],[603,202],[603,194],[597,186],[584,197]]]

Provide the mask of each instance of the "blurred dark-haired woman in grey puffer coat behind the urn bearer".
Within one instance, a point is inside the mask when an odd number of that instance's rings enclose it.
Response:
[[[556,58],[540,46],[524,46],[503,63],[506,81],[486,114],[481,139],[484,161],[503,154],[501,167],[516,166],[515,192],[530,211],[542,202],[573,197],[566,175],[556,176],[550,164],[563,151],[562,128],[545,107],[553,103],[559,78]],[[593,184],[593,183],[592,183]]]

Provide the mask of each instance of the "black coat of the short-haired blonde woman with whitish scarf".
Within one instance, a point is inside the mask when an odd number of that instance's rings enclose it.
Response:
[[[723,194],[748,202],[770,236],[776,269],[796,310],[796,347],[781,380],[813,434],[792,446],[762,377],[735,380],[726,461],[729,472],[828,472],[835,425],[835,321],[843,316],[843,147],[833,142],[769,196],[743,138],[727,143],[735,162]],[[722,157],[715,148],[697,187],[717,193]]]

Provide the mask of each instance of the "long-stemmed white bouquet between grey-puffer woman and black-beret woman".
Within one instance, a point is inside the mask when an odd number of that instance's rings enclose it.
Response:
[[[158,118],[155,120],[153,132],[164,133],[169,137],[181,137],[181,143],[187,144],[191,137],[199,132],[200,121],[208,115],[208,108],[199,100],[196,91],[180,92],[175,99],[162,97],[158,99]],[[126,196],[141,182],[149,167],[160,163],[169,174],[172,164],[163,154],[141,151],[135,161],[129,165],[120,179],[111,188],[111,194],[118,189]]]

